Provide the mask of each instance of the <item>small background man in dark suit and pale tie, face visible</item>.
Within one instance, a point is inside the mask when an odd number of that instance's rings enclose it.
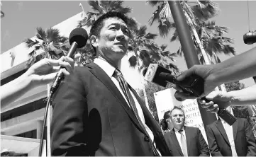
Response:
[[[170,112],[174,129],[165,133],[165,140],[173,156],[210,156],[204,136],[197,127],[184,126],[184,110],[174,106]]]

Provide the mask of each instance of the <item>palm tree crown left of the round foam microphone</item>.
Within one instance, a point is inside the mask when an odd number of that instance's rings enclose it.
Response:
[[[28,59],[26,67],[29,68],[35,62],[38,62],[43,58],[50,59],[60,59],[64,55],[61,49],[62,43],[67,41],[67,37],[60,35],[60,31],[56,28],[49,28],[43,30],[43,28],[36,28],[35,40],[26,39],[24,42],[28,48],[33,50],[28,54],[30,59]],[[64,48],[64,47],[62,47]]]

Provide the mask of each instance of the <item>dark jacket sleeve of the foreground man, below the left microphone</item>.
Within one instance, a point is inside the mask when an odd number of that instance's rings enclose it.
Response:
[[[87,100],[77,71],[61,83],[53,100],[52,156],[88,156],[84,120]]]

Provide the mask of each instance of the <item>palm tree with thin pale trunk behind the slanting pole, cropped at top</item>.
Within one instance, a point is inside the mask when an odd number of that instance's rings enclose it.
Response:
[[[150,25],[157,20],[159,22],[158,28],[160,30],[160,35],[163,37],[167,36],[169,31],[172,28],[175,28],[175,24],[170,22],[172,16],[169,4],[167,1],[148,1],[148,4],[151,6],[157,6],[157,11],[155,11],[152,18],[150,18]],[[210,62],[207,62],[208,56],[201,45],[201,40],[199,40],[195,27],[197,26],[196,21],[206,21],[208,18],[216,16],[218,13],[218,5],[214,4],[212,1],[196,1],[196,5],[194,6],[188,1],[182,1],[181,4],[184,16],[187,18],[187,23],[189,24],[191,31],[194,33],[197,45],[199,46],[204,59],[206,59],[206,64],[211,64]],[[194,4],[194,2],[192,4]]]

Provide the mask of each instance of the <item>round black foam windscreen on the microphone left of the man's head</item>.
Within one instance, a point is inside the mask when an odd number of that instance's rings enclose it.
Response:
[[[84,47],[87,44],[88,34],[84,28],[75,28],[69,35],[69,44],[77,42],[77,48]]]

